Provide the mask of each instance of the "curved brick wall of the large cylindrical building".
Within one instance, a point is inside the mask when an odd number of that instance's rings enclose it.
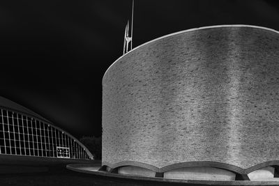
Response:
[[[279,34],[228,26],[178,33],[103,78],[103,164],[162,168],[279,160]]]

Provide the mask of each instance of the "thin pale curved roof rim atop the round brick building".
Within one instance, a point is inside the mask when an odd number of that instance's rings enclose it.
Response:
[[[197,30],[202,30],[202,29],[222,28],[222,27],[250,27],[250,28],[264,29],[264,30],[266,30],[266,31],[273,31],[273,32],[275,32],[275,33],[279,33],[279,31],[276,31],[276,30],[274,30],[274,29],[269,29],[269,28],[266,28],[266,27],[264,27],[264,26],[255,26],[255,25],[248,25],[248,24],[223,24],[223,25],[214,25],[214,26],[202,26],[202,27],[195,28],[195,29],[187,29],[187,30],[183,30],[183,31],[178,31],[178,32],[170,33],[170,34],[167,34],[167,35],[165,35],[165,36],[162,36],[162,37],[159,37],[159,38],[150,40],[150,41],[148,41],[148,42],[145,42],[145,43],[142,44],[142,45],[139,45],[139,46],[137,46],[137,47],[131,49],[129,52],[127,52],[127,53],[124,54],[123,56],[126,56],[127,54],[130,54],[130,52],[133,52],[133,51],[135,51],[136,49],[139,49],[140,47],[144,47],[145,45],[148,45],[148,44],[150,44],[151,42],[156,42],[157,40],[160,40],[160,39],[163,39],[163,38],[167,38],[167,37],[170,37],[170,36],[174,36],[174,35],[177,35],[177,34],[180,34],[180,33],[186,33],[186,32],[190,32],[190,31],[197,31]],[[103,75],[103,79],[104,79],[105,75],[107,74],[107,71],[109,71],[110,68],[112,68],[112,66],[113,66],[117,61],[119,61],[120,59],[122,59],[123,56],[120,56],[119,59],[116,59],[116,61],[114,61],[114,63],[112,63],[112,65],[110,65],[109,68],[107,68],[107,70],[105,71],[105,74]]]

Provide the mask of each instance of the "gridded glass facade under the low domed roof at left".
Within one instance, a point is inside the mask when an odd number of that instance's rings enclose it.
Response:
[[[0,154],[90,159],[75,139],[37,118],[1,109]]]

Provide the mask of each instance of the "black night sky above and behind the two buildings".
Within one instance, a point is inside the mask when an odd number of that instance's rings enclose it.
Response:
[[[76,137],[100,136],[102,78],[122,54],[132,0],[0,3],[0,95]],[[279,30],[276,1],[135,0],[133,45],[218,24]]]

